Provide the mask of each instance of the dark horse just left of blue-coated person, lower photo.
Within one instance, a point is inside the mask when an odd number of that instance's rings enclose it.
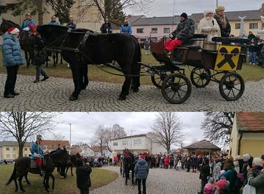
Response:
[[[124,151],[123,153],[123,167],[125,171],[125,185],[127,185],[127,179],[130,179],[130,170],[132,172],[132,185],[134,185],[134,167],[137,161],[134,155],[130,151]]]

